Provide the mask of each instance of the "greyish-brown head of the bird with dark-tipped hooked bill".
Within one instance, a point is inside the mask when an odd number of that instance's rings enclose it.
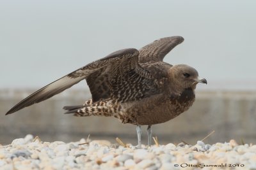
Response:
[[[169,70],[170,81],[176,89],[184,90],[191,88],[195,90],[197,83],[205,83],[205,78],[200,78],[193,67],[185,64],[172,66]]]

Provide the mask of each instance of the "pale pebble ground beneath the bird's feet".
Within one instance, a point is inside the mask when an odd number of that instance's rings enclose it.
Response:
[[[52,143],[27,135],[0,145],[0,169],[256,169],[256,145],[154,145],[137,149],[109,141]]]

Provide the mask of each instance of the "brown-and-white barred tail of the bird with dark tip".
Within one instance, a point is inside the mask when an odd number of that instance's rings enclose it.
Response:
[[[90,117],[92,115],[111,117],[113,115],[111,109],[109,109],[108,103],[104,101],[92,104],[92,100],[89,100],[83,105],[64,106],[63,109],[67,110],[65,114],[74,113],[76,117]]]

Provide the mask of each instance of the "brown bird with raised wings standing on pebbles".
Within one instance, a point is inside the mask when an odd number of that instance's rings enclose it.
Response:
[[[92,99],[79,106],[65,106],[66,113],[76,117],[115,117],[123,124],[137,125],[138,148],[141,125],[148,125],[151,145],[151,125],[167,122],[188,110],[195,101],[196,84],[207,83],[193,67],[163,62],[164,56],[182,41],[180,36],[166,37],[140,50],[113,52],[36,91],[6,115],[49,99],[85,79]]]

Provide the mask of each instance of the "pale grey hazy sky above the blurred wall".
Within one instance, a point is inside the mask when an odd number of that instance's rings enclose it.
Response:
[[[122,48],[185,41],[165,62],[256,89],[256,1],[0,1],[0,88],[40,88]],[[81,87],[80,85],[76,87]],[[249,86],[249,87],[248,87]]]

